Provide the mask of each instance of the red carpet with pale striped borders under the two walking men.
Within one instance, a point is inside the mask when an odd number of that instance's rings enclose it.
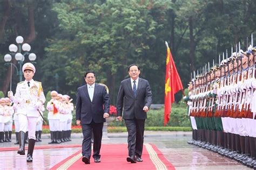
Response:
[[[143,162],[136,164],[126,161],[128,154],[126,144],[102,145],[100,154],[102,155],[100,163],[95,163],[91,157],[91,164],[85,165],[82,162],[81,151],[78,151],[51,169],[175,169],[158,148],[151,144],[144,144]]]

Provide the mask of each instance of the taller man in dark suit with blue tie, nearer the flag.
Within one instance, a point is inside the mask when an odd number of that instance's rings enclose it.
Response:
[[[138,65],[130,65],[128,68],[129,79],[121,82],[117,96],[117,119],[125,119],[128,131],[127,161],[131,163],[142,162],[142,150],[144,140],[144,126],[152,103],[152,94],[149,82],[139,78],[140,69]],[[124,110],[123,110],[124,106]]]

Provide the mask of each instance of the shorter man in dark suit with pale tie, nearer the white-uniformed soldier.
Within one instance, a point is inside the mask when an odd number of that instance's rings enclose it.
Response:
[[[104,86],[95,83],[95,73],[88,71],[84,75],[86,84],[77,89],[76,122],[82,125],[82,161],[90,164],[91,136],[93,133],[93,158],[100,162],[100,147],[102,145],[102,129],[105,118],[109,117],[109,95]]]

